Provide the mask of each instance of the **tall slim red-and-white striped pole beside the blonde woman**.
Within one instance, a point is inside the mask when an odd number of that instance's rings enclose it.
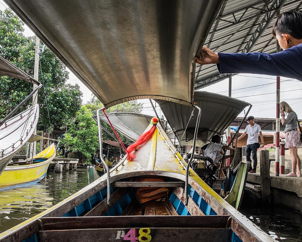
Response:
[[[279,176],[279,161],[280,161],[280,77],[276,77],[276,134],[275,134],[275,175]],[[284,173],[283,173],[284,174]]]

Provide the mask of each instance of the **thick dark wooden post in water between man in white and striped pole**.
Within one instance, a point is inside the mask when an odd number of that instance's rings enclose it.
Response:
[[[270,162],[269,151],[260,150],[260,178],[261,178],[261,192],[262,202],[271,203],[271,181],[269,174]]]

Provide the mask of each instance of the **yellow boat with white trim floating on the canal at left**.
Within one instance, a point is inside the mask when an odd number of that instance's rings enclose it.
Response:
[[[0,175],[0,189],[29,185],[41,181],[54,157],[56,157],[56,146],[53,143],[29,159],[8,164]]]

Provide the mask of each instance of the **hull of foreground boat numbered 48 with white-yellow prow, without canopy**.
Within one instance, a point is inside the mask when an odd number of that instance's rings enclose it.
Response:
[[[66,237],[79,242],[100,238],[152,242],[169,240],[171,234],[175,242],[274,241],[192,169],[189,200],[185,204],[186,163],[160,125],[156,125],[151,139],[137,147],[134,155],[134,161],[125,156],[109,170],[109,203],[108,173],[105,173],[52,208],[3,232],[0,242],[21,242],[28,238],[63,242]],[[140,203],[137,194],[142,189],[150,192],[143,194],[146,196]],[[165,195],[158,197],[159,194]]]

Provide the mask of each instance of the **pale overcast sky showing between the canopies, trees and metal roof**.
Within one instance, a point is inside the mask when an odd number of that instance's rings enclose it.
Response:
[[[0,10],[5,9],[6,4],[0,0]],[[25,28],[26,36],[34,35],[29,28]],[[83,92],[83,103],[87,103],[92,93],[82,84],[74,74],[70,73],[69,83],[79,84]],[[244,100],[253,105],[250,115],[255,118],[276,117],[276,77],[264,75],[239,74],[232,77],[232,97]],[[205,87],[201,90],[228,95],[229,80]],[[281,101],[288,102],[302,118],[302,82],[281,77]],[[154,115],[149,100],[140,100],[144,103],[143,113]],[[157,108],[159,115],[161,111]],[[242,112],[239,117],[244,116]]]

